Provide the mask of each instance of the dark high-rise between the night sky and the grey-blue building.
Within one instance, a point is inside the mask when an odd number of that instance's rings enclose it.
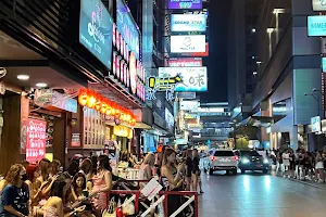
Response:
[[[228,101],[234,118],[248,116],[258,74],[256,24],[260,1],[233,1],[228,21]]]

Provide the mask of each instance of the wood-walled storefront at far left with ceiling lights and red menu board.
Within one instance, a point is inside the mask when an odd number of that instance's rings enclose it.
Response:
[[[0,54],[42,59],[18,41],[10,40],[11,43],[0,41]],[[77,112],[75,93],[87,81],[71,79],[64,67],[50,61],[42,66],[13,66],[11,61],[2,61],[2,66],[5,73],[0,85],[0,174],[24,159],[36,162],[47,157],[64,164],[65,144],[71,141],[67,132],[72,115]]]

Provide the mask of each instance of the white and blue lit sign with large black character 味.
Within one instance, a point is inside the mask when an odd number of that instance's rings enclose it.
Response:
[[[208,91],[206,67],[160,67],[160,79],[175,77],[178,82],[174,86],[176,92]]]

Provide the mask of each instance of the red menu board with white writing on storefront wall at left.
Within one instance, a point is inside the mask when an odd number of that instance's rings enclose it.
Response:
[[[26,126],[26,161],[33,163],[46,156],[47,122],[28,119]]]

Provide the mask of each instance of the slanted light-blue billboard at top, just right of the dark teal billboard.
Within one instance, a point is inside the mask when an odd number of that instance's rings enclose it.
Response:
[[[124,0],[116,0],[116,28],[139,60],[139,31]]]

